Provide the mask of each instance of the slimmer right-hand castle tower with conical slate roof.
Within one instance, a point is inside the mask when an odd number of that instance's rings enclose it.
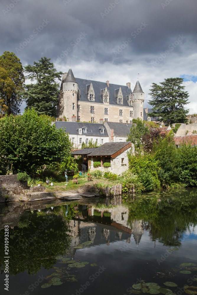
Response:
[[[136,86],[131,94],[133,102],[133,118],[140,118],[144,120],[144,92],[141,89],[139,80],[136,82]]]

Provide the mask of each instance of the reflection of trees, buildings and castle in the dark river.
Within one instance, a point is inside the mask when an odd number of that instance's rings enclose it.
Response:
[[[87,203],[83,200],[84,204],[40,202],[24,206],[11,203],[1,207],[1,273],[4,269],[4,223],[11,222],[12,224],[9,225],[9,250],[12,253],[10,275],[25,271],[29,274],[39,274],[40,270],[50,270],[55,264],[67,271],[68,267],[64,264],[58,265],[55,257],[69,255],[71,259],[76,259],[83,253],[86,261],[93,259],[95,255],[94,262],[98,265],[105,262],[108,269],[115,272],[113,277],[116,274],[123,275],[127,281],[128,275],[128,284],[130,284],[128,259],[131,265],[137,263],[139,269],[143,269],[145,277],[149,274],[146,266],[149,260],[145,261],[143,249],[146,249],[146,257],[155,255],[154,258],[151,256],[147,259],[154,259],[153,261],[156,262],[161,255],[157,253],[156,245],[179,247],[178,249],[181,250],[181,246],[185,247],[188,243],[188,241],[183,242],[183,235],[187,233],[189,236],[193,231],[196,237],[196,192],[196,189],[188,189],[180,193],[151,193],[135,198],[116,196],[88,200]],[[135,247],[136,255],[139,255],[137,262],[135,262],[136,257],[132,256],[133,247]],[[191,244],[188,247],[191,249]],[[115,249],[114,253],[112,249]],[[105,252],[108,255],[105,255]],[[115,265],[112,266],[113,259]],[[169,260],[168,268],[172,267],[170,264],[172,262],[173,259]],[[90,264],[87,265],[88,267]],[[158,265],[155,266],[154,272],[157,268]],[[136,275],[135,271],[133,275]],[[140,273],[138,275],[141,276]],[[106,272],[105,276],[109,276],[110,281],[110,274]],[[133,282],[135,280],[136,278],[132,278]],[[114,282],[114,278],[111,278],[111,281]]]

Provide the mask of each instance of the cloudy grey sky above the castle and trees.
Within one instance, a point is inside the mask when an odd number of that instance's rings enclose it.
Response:
[[[196,0],[1,0],[0,55],[22,65],[51,58],[77,78],[126,85],[184,78],[187,108],[197,113]]]

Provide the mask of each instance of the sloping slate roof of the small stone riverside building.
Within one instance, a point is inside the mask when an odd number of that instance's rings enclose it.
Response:
[[[131,141],[105,142],[99,148],[96,148],[92,153],[88,154],[88,156],[111,156],[130,143]]]

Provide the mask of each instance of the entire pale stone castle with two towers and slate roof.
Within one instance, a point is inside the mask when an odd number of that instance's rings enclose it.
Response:
[[[144,119],[144,92],[139,81],[131,91],[126,86],[75,78],[71,68],[64,73],[58,94],[57,118],[71,121],[132,123]]]

